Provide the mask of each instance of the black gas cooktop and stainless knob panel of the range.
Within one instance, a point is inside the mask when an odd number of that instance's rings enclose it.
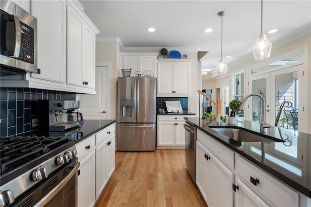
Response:
[[[70,171],[77,163],[70,136],[0,137],[0,206],[15,206],[14,202],[26,198],[33,186],[39,188],[39,183],[45,183],[56,171]]]

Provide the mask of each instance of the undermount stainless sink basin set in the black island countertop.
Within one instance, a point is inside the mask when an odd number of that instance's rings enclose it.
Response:
[[[246,131],[243,128],[216,128],[216,127],[209,127],[219,134],[225,135],[226,137],[232,138],[236,141],[245,141],[245,142],[284,142],[284,140],[278,138],[266,138],[256,133],[252,133]]]

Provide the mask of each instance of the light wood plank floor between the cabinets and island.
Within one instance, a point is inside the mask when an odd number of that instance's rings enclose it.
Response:
[[[96,207],[204,207],[185,150],[116,152],[116,169]]]

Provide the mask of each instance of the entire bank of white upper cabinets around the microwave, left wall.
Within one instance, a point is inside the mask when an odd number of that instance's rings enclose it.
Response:
[[[1,77],[1,87],[95,94],[95,35],[99,30],[77,0],[16,0],[37,18],[40,74]],[[28,3],[27,3],[28,2]],[[24,8],[25,9],[25,8]],[[27,10],[27,9],[26,9]]]

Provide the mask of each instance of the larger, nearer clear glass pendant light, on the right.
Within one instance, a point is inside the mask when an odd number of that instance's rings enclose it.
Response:
[[[255,60],[265,60],[270,58],[272,43],[268,42],[267,35],[262,35],[262,0],[261,0],[261,28],[257,37],[256,45],[253,47]]]

